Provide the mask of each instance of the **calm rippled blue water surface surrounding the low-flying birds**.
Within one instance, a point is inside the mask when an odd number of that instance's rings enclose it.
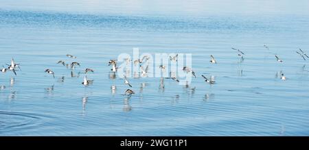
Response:
[[[14,58],[21,71],[0,73],[0,135],[308,136],[309,60],[295,53],[309,53],[308,8],[279,0],[1,0],[0,66]],[[192,53],[197,78],[189,87],[165,79],[164,90],[159,78],[130,78],[136,94],[126,99],[128,86],[109,78],[107,62],[133,47]],[[244,62],[231,47],[246,53]],[[74,77],[56,64],[72,62],[67,53],[81,64]],[[92,86],[81,84],[84,68],[95,70]]]

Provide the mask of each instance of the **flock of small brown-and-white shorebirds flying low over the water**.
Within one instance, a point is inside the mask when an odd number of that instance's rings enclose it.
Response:
[[[266,49],[269,49],[268,46],[264,45],[264,47]],[[238,52],[238,57],[240,58],[240,60],[244,60],[244,52],[241,51],[240,49],[236,49],[236,48],[231,48],[233,50],[236,50]],[[308,55],[302,50],[302,49],[299,49],[296,51],[297,54],[299,54],[301,56],[302,59],[306,60],[306,59],[309,59]],[[73,56],[73,55],[69,55],[67,54],[66,55],[68,58],[76,58],[76,56]],[[178,62],[178,54],[174,55],[173,57],[170,56],[170,60],[173,61],[173,62]],[[277,60],[277,62],[283,62],[283,60],[281,60],[278,55],[275,55],[275,58]],[[144,56],[143,58],[141,59],[138,59],[138,60],[135,60],[133,62],[133,64],[135,66],[139,65],[139,73],[138,75],[140,75],[141,77],[145,77],[148,73],[148,68],[149,68],[149,60],[150,58],[148,56]],[[130,63],[130,59],[129,58],[126,58],[124,59],[124,61],[126,63]],[[211,64],[216,64],[217,61],[216,59],[214,58],[214,55],[210,55],[210,60],[209,62]],[[66,64],[65,61],[62,61],[62,60],[59,60],[56,64],[62,64],[63,66],[67,66],[67,68],[71,68],[71,69],[74,69],[76,66],[80,66],[80,63],[79,62],[71,62],[69,64]],[[16,74],[16,71],[18,69],[18,71],[21,71],[21,68],[20,68],[20,64],[17,64],[14,59],[12,58],[11,60],[11,64],[6,64],[8,67],[4,67],[1,68],[1,72],[2,73],[6,73],[7,71],[12,71],[14,73],[14,75],[17,75]],[[109,60],[108,62],[108,66],[111,66],[111,72],[114,73],[113,76],[115,76],[115,73],[119,70],[119,67],[117,67],[117,60]],[[159,68],[161,69],[162,72],[165,72],[165,68],[166,66],[163,66],[163,65],[160,65]],[[189,68],[187,66],[184,66],[183,67],[183,71],[185,73],[190,73],[192,74],[192,76],[194,76],[196,78],[196,73],[192,70],[192,68]],[[87,73],[89,72],[94,72],[94,70],[92,68],[86,68],[84,70],[84,80],[82,82],[82,85],[84,86],[90,86],[91,84],[93,84],[93,80],[91,79],[88,79],[87,78]],[[45,69],[45,73],[48,73],[49,75],[52,75],[54,78],[55,78],[55,73],[54,71],[52,71],[50,68],[47,68]],[[280,73],[281,77],[280,79],[282,80],[286,80],[287,78],[284,76],[284,73]],[[214,79],[211,77],[211,79],[208,79],[207,77],[205,77],[205,75],[201,75],[204,79],[205,79],[205,82],[207,82],[208,84],[216,84],[216,82],[214,81]],[[179,82],[179,79],[176,77],[176,75],[172,75],[172,72],[170,72],[170,77],[164,77],[165,79],[172,79],[174,80],[175,82]],[[161,85],[163,85],[163,77],[161,77]],[[126,75],[124,75],[123,77],[124,79],[124,84],[129,86],[130,88],[132,88],[132,85],[130,84],[128,78],[126,77]],[[115,86],[111,86],[112,90],[115,90]],[[113,89],[114,88],[114,89]],[[128,88],[125,92],[124,92],[124,95],[127,95],[128,97],[130,97],[131,95],[135,94],[135,91],[131,90],[130,88]]]

